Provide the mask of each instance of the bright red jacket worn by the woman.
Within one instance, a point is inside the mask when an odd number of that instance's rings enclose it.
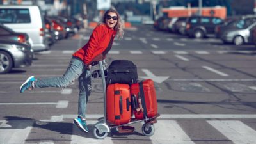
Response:
[[[86,45],[78,49],[73,56],[81,58],[86,65],[92,63],[93,58],[102,54],[108,47],[111,40],[115,38],[116,31],[109,28],[106,24],[99,24],[92,32],[89,41]],[[111,45],[112,46],[112,45]]]

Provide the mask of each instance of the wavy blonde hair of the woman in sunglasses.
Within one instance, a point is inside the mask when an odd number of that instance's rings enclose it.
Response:
[[[117,33],[117,38],[121,39],[124,36],[124,30],[123,30],[124,25],[123,25],[123,22],[122,22],[122,19],[121,19],[119,13],[116,10],[114,10],[114,9],[107,10],[102,17],[102,23],[106,24],[106,17],[109,12],[116,13],[116,15],[117,15],[118,20],[117,20],[116,26],[114,27],[114,30]]]

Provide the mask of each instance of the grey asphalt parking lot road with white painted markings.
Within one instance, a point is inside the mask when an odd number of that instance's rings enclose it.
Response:
[[[173,143],[255,144],[256,52],[254,45],[223,45],[215,38],[191,39],[151,26],[125,29],[115,40],[106,61],[125,59],[138,67],[140,79],[153,79],[161,116],[151,137],[115,130],[104,140],[93,136],[93,125],[102,116],[100,79],[92,80],[88,103],[90,133],[73,124],[77,116],[78,83],[67,88],[38,88],[19,93],[29,76],[61,76],[92,29],[83,29],[35,54],[33,65],[0,75],[0,144],[40,143]],[[93,67],[93,70],[97,67]]]

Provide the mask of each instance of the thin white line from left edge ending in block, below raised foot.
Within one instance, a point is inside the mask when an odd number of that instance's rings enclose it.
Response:
[[[68,101],[60,100],[58,102],[2,102],[0,103],[0,106],[6,106],[6,105],[56,105],[56,108],[67,108]]]

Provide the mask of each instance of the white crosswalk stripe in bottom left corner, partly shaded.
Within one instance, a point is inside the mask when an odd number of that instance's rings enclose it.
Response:
[[[0,126],[0,143],[16,144],[25,143],[28,137],[33,121],[32,120],[12,120],[10,123],[15,123],[15,127],[1,127]]]

